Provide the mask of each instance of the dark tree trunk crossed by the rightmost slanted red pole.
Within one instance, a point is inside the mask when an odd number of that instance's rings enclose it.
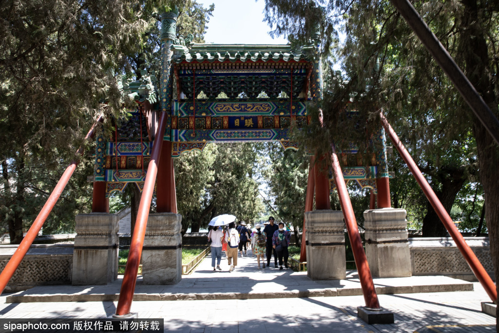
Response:
[[[442,168],[439,170],[439,173],[437,178],[441,179],[442,190],[435,191],[435,194],[447,213],[450,213],[456,195],[463,187],[466,177],[464,176],[464,170],[456,168]],[[433,206],[428,202],[427,212],[423,218],[423,237],[445,237],[446,235],[447,229],[445,229],[444,224],[440,221]]]

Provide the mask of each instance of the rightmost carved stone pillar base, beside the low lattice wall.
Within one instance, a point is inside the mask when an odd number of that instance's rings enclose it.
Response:
[[[412,276],[405,209],[364,212],[366,256],[373,277]]]

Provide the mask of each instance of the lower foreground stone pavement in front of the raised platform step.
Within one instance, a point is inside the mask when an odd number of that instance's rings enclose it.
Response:
[[[488,299],[478,283],[474,291],[379,295],[395,323],[367,325],[357,317],[362,296],[291,299],[133,302],[139,318],[163,318],[164,332],[495,332],[495,318],[481,312]],[[0,318],[106,318],[116,302],[5,303]],[[466,327],[468,331],[463,331]],[[430,329],[430,328],[428,328]],[[445,329],[445,331],[444,331]],[[486,331],[483,331],[486,330]]]

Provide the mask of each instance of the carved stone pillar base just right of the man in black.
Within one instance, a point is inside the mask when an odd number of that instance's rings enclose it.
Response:
[[[307,276],[312,280],[346,278],[343,213],[315,210],[305,213]]]

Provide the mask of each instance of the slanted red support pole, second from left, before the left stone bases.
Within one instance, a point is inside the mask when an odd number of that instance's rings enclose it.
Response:
[[[135,292],[135,284],[137,282],[137,272],[139,271],[140,256],[142,255],[142,247],[144,245],[144,237],[146,235],[147,219],[149,217],[154,184],[156,183],[156,175],[158,173],[158,164],[160,162],[161,151],[163,148],[163,133],[165,132],[167,119],[168,114],[166,112],[161,112],[158,131],[156,132],[153,144],[151,161],[147,167],[144,189],[142,190],[142,196],[140,197],[137,220],[135,222],[130,251],[128,253],[128,262],[125,267],[125,275],[123,276],[118,305],[116,306],[117,316],[126,316],[130,314],[133,294]]]

